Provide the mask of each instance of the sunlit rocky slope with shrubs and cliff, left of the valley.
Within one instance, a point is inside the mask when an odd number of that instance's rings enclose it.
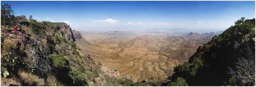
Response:
[[[28,23],[22,35],[1,29],[1,86],[121,85],[77,49],[79,31],[60,22]],[[109,84],[106,78],[116,82]]]

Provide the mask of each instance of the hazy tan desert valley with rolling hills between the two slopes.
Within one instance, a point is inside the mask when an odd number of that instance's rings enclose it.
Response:
[[[199,45],[220,33],[84,31],[76,45],[102,63],[106,74],[135,82],[164,81],[175,66],[188,61]]]

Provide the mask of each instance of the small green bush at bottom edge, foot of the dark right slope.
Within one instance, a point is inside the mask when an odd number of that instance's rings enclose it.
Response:
[[[170,86],[188,86],[188,84],[186,83],[186,79],[183,79],[182,77],[178,77],[177,79],[175,79],[175,81],[171,82],[169,85]]]

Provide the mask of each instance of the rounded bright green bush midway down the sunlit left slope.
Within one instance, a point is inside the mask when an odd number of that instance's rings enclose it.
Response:
[[[61,54],[52,54],[52,63],[56,68],[67,68],[68,63],[65,57]]]

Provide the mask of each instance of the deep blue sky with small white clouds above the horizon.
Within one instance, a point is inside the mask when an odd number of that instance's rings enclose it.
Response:
[[[1,1],[15,15],[67,22],[83,31],[221,31],[255,17],[255,1]]]

